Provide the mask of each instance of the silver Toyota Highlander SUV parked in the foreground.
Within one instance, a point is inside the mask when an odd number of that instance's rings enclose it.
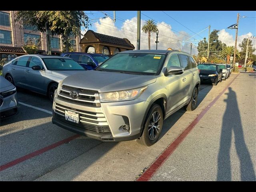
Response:
[[[102,141],[151,146],[164,119],[197,106],[200,78],[192,56],[168,50],[119,52],[95,70],[71,75],[54,93],[52,122]]]

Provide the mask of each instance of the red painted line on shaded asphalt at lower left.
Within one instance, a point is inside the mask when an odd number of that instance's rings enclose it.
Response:
[[[42,154],[42,153],[44,153],[44,152],[46,152],[46,151],[48,151],[48,150],[51,150],[51,149],[53,149],[53,148],[56,148],[56,147],[58,147],[58,146],[60,146],[60,145],[62,145],[62,144],[64,144],[64,143],[70,142],[70,141],[72,141],[72,140],[74,140],[74,139],[76,139],[76,138],[78,138],[78,137],[80,137],[80,136],[81,136],[81,135],[76,134],[76,135],[71,136],[71,137],[69,137],[69,138],[66,138],[66,139],[64,139],[64,140],[61,140],[61,141],[56,142],[56,143],[54,143],[54,144],[51,144],[51,145],[49,145],[49,146],[47,146],[47,147],[45,147],[45,148],[42,148],[42,149],[40,149],[40,150],[37,150],[37,151],[32,152],[32,153],[30,153],[30,154],[27,154],[27,155],[25,155],[25,156],[23,156],[23,157],[21,157],[21,158],[18,158],[18,159],[16,159],[16,160],[13,160],[13,161],[11,161],[11,162],[8,162],[8,163],[6,163],[6,164],[4,164],[4,165],[1,165],[1,166],[0,166],[0,171],[3,171],[3,170],[5,170],[5,169],[7,169],[7,168],[10,168],[10,167],[16,165],[16,164],[19,164],[19,163],[21,163],[21,162],[23,162],[23,161],[26,161],[26,160],[30,159],[30,158],[33,158],[33,157],[35,157],[35,156],[38,156],[38,155],[40,155],[40,154]]]

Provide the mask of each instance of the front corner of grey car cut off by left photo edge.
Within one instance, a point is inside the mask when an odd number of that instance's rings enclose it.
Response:
[[[18,97],[16,87],[0,76],[0,118],[16,114],[18,110]]]

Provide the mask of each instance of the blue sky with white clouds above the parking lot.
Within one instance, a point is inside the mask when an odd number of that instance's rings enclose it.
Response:
[[[116,11],[116,22],[113,21],[114,11],[85,11],[90,18],[91,26],[84,30],[127,38],[135,46],[137,39],[137,11]],[[180,49],[178,41],[208,39],[208,26],[210,32],[220,30],[219,40],[227,46],[235,44],[235,29],[227,29],[236,24],[237,14],[240,14],[238,25],[238,44],[244,38],[256,36],[256,11],[141,11],[141,26],[148,19],[153,19],[158,26],[158,49]],[[243,16],[246,16],[243,18]],[[105,18],[104,18],[105,17]],[[198,35],[196,35],[198,34]],[[190,38],[192,37],[192,38]],[[151,49],[156,49],[156,34],[151,34]],[[182,43],[182,51],[198,54],[196,46],[199,41]],[[252,39],[256,48],[256,39]],[[140,49],[148,49],[148,34],[141,31]],[[254,52],[256,54],[256,51]]]

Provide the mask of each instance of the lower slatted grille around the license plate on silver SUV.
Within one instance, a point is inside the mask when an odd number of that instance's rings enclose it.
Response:
[[[79,113],[79,124],[65,120],[65,110],[71,110]],[[56,117],[65,123],[98,133],[111,133],[108,122],[103,113],[76,110],[60,104],[55,104],[54,111],[56,113]]]

